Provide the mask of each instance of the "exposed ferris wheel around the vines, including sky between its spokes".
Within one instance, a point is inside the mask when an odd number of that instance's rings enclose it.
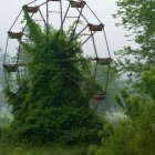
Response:
[[[16,76],[17,81],[21,81],[23,72],[25,72],[27,62],[22,59],[21,41],[29,41],[27,35],[27,23],[23,20],[24,10],[30,17],[40,24],[41,28],[50,29],[52,25],[60,31],[68,31],[73,27],[75,37],[81,41],[81,46],[86,58],[94,64],[94,82],[96,81],[97,66],[104,65],[107,68],[106,73],[103,73],[105,81],[103,90],[92,95],[92,99],[97,102],[95,108],[106,97],[108,74],[111,62],[113,61],[110,53],[110,48],[104,30],[104,24],[90,8],[86,1],[82,0],[34,0],[24,4],[8,31],[6,43],[6,52],[3,60],[3,69],[6,79]],[[20,22],[20,24],[19,24]],[[100,43],[99,43],[100,42]],[[12,46],[16,44],[16,48]],[[100,50],[99,50],[100,49]],[[14,58],[8,59],[14,50]]]

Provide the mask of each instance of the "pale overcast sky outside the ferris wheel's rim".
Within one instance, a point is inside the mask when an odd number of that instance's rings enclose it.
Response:
[[[10,29],[21,7],[32,0],[1,0],[0,4],[0,46],[4,49],[7,31]],[[40,1],[40,0],[38,0]],[[63,0],[65,1],[65,0]],[[116,0],[86,0],[91,9],[97,14],[99,19],[105,24],[111,51],[122,49],[128,44],[124,38],[125,30],[116,28],[116,20],[112,18],[117,10]]]

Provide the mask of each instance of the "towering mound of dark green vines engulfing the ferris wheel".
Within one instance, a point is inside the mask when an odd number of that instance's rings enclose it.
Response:
[[[103,123],[89,106],[90,62],[73,28],[43,31],[24,13],[30,41],[21,44],[30,58],[28,73],[16,91],[6,87],[14,117],[13,137],[35,144],[97,143]]]

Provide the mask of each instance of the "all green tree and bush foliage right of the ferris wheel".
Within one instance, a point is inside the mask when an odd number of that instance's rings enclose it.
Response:
[[[125,29],[132,32],[134,50],[117,52],[117,68],[130,83],[116,96],[128,121],[103,128],[101,146],[90,146],[90,155],[153,155],[155,153],[155,1],[117,0]],[[107,132],[106,132],[107,131]],[[106,136],[105,136],[105,133]],[[102,134],[101,134],[102,136]]]

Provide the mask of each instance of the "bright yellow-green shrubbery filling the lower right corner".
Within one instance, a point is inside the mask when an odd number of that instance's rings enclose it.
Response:
[[[154,69],[147,71],[154,73]],[[155,79],[149,79],[149,74],[143,72],[142,84],[144,92],[147,92],[151,96],[154,93],[149,84],[155,82]],[[147,75],[147,78],[146,78]],[[147,87],[146,87],[147,85]],[[140,97],[133,96],[126,97],[128,100],[130,120],[118,124],[113,132],[112,130],[105,128],[110,133],[107,136],[103,136],[102,146],[90,152],[93,155],[152,155],[155,152],[155,100],[149,99],[142,101]],[[146,102],[145,104],[143,104]],[[133,106],[134,105],[134,106]],[[136,108],[135,108],[136,105]],[[134,108],[133,108],[134,107]],[[138,108],[137,108],[138,107]],[[136,111],[135,111],[136,110]],[[103,131],[104,131],[103,130]]]

